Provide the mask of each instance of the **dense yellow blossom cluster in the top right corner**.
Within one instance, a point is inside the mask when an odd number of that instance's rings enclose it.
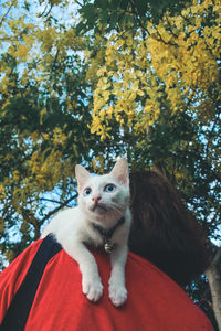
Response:
[[[215,2],[221,4],[220,0]],[[158,26],[148,26],[148,50],[152,66],[166,83],[173,109],[180,99],[178,85],[183,86],[185,94],[191,98],[191,92],[207,90],[211,82],[218,81],[221,13],[219,6],[213,7],[217,18],[211,26],[206,25],[211,6],[213,1],[210,0],[201,4],[193,1],[192,7],[182,11],[182,15],[171,18],[166,14]]]

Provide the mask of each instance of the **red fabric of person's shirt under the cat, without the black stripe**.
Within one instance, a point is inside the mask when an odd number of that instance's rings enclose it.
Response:
[[[0,275],[0,321],[41,241],[28,247]],[[108,299],[109,260],[95,254],[104,295],[92,303],[82,293],[77,264],[64,252],[46,265],[25,331],[212,331],[203,312],[185,291],[147,260],[129,254],[128,299],[115,308]]]

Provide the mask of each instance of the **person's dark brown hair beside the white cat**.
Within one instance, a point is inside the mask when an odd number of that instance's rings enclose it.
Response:
[[[183,286],[209,265],[207,238],[175,186],[155,171],[130,174],[131,252]]]

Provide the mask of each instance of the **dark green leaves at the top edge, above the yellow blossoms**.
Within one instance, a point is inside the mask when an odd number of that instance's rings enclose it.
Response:
[[[81,21],[76,26],[77,32],[99,31],[105,25],[106,32],[110,32],[116,25],[130,22],[134,28],[139,26],[138,20],[151,19],[158,23],[166,11],[171,14],[180,12],[188,1],[183,0],[94,0],[84,1],[81,6]]]

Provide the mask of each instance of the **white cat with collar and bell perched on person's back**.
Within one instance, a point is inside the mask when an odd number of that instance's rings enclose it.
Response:
[[[126,159],[119,159],[112,172],[92,175],[75,167],[78,206],[59,213],[45,226],[42,237],[52,233],[73,257],[82,273],[82,288],[88,300],[97,301],[103,285],[94,256],[87,246],[104,245],[110,255],[109,298],[118,307],[127,299],[125,264],[131,214],[129,211],[129,175]]]

